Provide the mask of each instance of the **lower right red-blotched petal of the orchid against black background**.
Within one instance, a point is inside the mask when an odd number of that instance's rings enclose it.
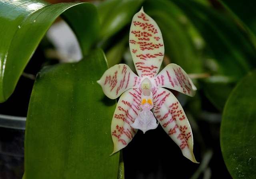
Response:
[[[198,163],[193,153],[192,130],[178,100],[164,88],[156,90],[153,96],[152,111],[164,131],[180,147],[185,157]]]

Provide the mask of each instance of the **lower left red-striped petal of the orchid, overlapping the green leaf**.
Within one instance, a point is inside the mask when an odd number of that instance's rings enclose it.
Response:
[[[113,153],[126,147],[138,129],[130,126],[140,113],[140,89],[128,89],[118,100],[111,123]]]

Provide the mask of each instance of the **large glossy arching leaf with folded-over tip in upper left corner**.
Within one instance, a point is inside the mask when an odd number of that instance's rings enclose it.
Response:
[[[62,13],[76,33],[83,53],[88,53],[99,32],[94,5],[51,5],[40,0],[0,1],[0,102],[12,94],[44,34]]]

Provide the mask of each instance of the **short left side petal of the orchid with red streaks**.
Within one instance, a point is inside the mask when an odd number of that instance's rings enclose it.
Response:
[[[130,88],[140,88],[140,77],[128,65],[118,64],[109,68],[97,81],[108,98],[115,99]]]

